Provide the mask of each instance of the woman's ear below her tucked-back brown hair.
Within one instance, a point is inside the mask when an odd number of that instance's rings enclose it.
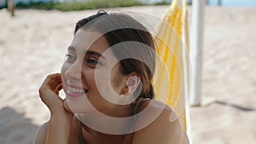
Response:
[[[131,73],[126,80],[125,88],[123,90],[124,95],[131,95],[137,89],[137,86],[141,83],[141,78],[137,73]]]

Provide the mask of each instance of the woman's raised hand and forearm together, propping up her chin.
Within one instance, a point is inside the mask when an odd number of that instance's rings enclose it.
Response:
[[[44,79],[39,89],[39,95],[44,104],[49,108],[50,119],[46,136],[47,144],[67,144],[73,113],[69,111],[66,101],[59,96],[62,89],[61,74],[50,74]]]

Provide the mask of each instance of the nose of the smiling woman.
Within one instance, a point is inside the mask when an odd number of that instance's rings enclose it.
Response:
[[[81,68],[81,62],[74,62],[73,64],[71,64],[71,66],[67,68],[67,71],[65,72],[66,78],[70,80],[81,80]]]

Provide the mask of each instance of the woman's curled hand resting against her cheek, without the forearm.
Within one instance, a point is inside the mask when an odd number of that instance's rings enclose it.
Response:
[[[44,83],[39,89],[39,95],[44,104],[49,108],[51,115],[62,115],[71,118],[73,113],[69,111],[66,101],[59,96],[62,89],[61,74],[50,74],[44,79]]]

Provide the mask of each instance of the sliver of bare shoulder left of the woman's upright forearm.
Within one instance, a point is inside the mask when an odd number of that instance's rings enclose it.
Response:
[[[34,140],[34,144],[44,144],[45,143],[46,136],[47,136],[47,130],[48,130],[48,122],[44,123],[38,130],[38,133]]]

